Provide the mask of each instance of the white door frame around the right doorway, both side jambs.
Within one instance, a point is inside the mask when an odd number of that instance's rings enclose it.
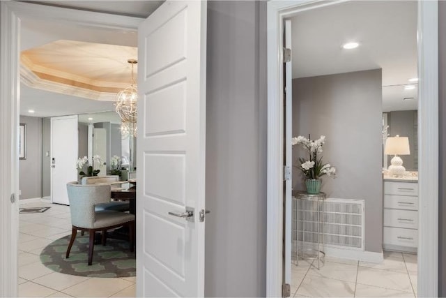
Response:
[[[283,20],[343,1],[269,1],[266,296],[282,296]],[[418,1],[418,296],[438,296],[438,1]],[[422,119],[422,121],[421,121]]]

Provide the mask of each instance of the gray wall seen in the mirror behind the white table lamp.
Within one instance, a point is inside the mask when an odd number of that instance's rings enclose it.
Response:
[[[418,170],[418,111],[392,111],[387,112],[387,124],[390,137],[399,135],[409,138],[410,155],[401,155],[403,166],[407,171]],[[390,165],[392,156],[387,158],[387,166]]]

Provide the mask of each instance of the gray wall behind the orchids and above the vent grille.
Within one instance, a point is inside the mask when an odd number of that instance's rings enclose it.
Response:
[[[381,252],[383,238],[381,70],[293,80],[293,136],[325,135],[323,161],[337,177],[323,177],[328,198],[365,201],[365,249]],[[304,156],[296,146],[293,157]],[[293,169],[293,188],[303,190]]]

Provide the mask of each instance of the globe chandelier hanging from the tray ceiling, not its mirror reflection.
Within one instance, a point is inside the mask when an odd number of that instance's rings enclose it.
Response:
[[[127,62],[132,66],[132,80],[129,87],[116,94],[116,102],[114,105],[116,106],[116,113],[121,117],[123,123],[134,124],[137,122],[138,89],[133,76],[133,66],[134,64],[137,64],[138,61],[135,59],[128,59]]]

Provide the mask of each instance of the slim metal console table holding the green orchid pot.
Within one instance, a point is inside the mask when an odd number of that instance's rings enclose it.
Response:
[[[309,195],[296,193],[295,200],[295,240],[296,260],[313,260],[317,269],[324,264],[324,201],[325,193]],[[316,262],[316,264],[314,264]]]

